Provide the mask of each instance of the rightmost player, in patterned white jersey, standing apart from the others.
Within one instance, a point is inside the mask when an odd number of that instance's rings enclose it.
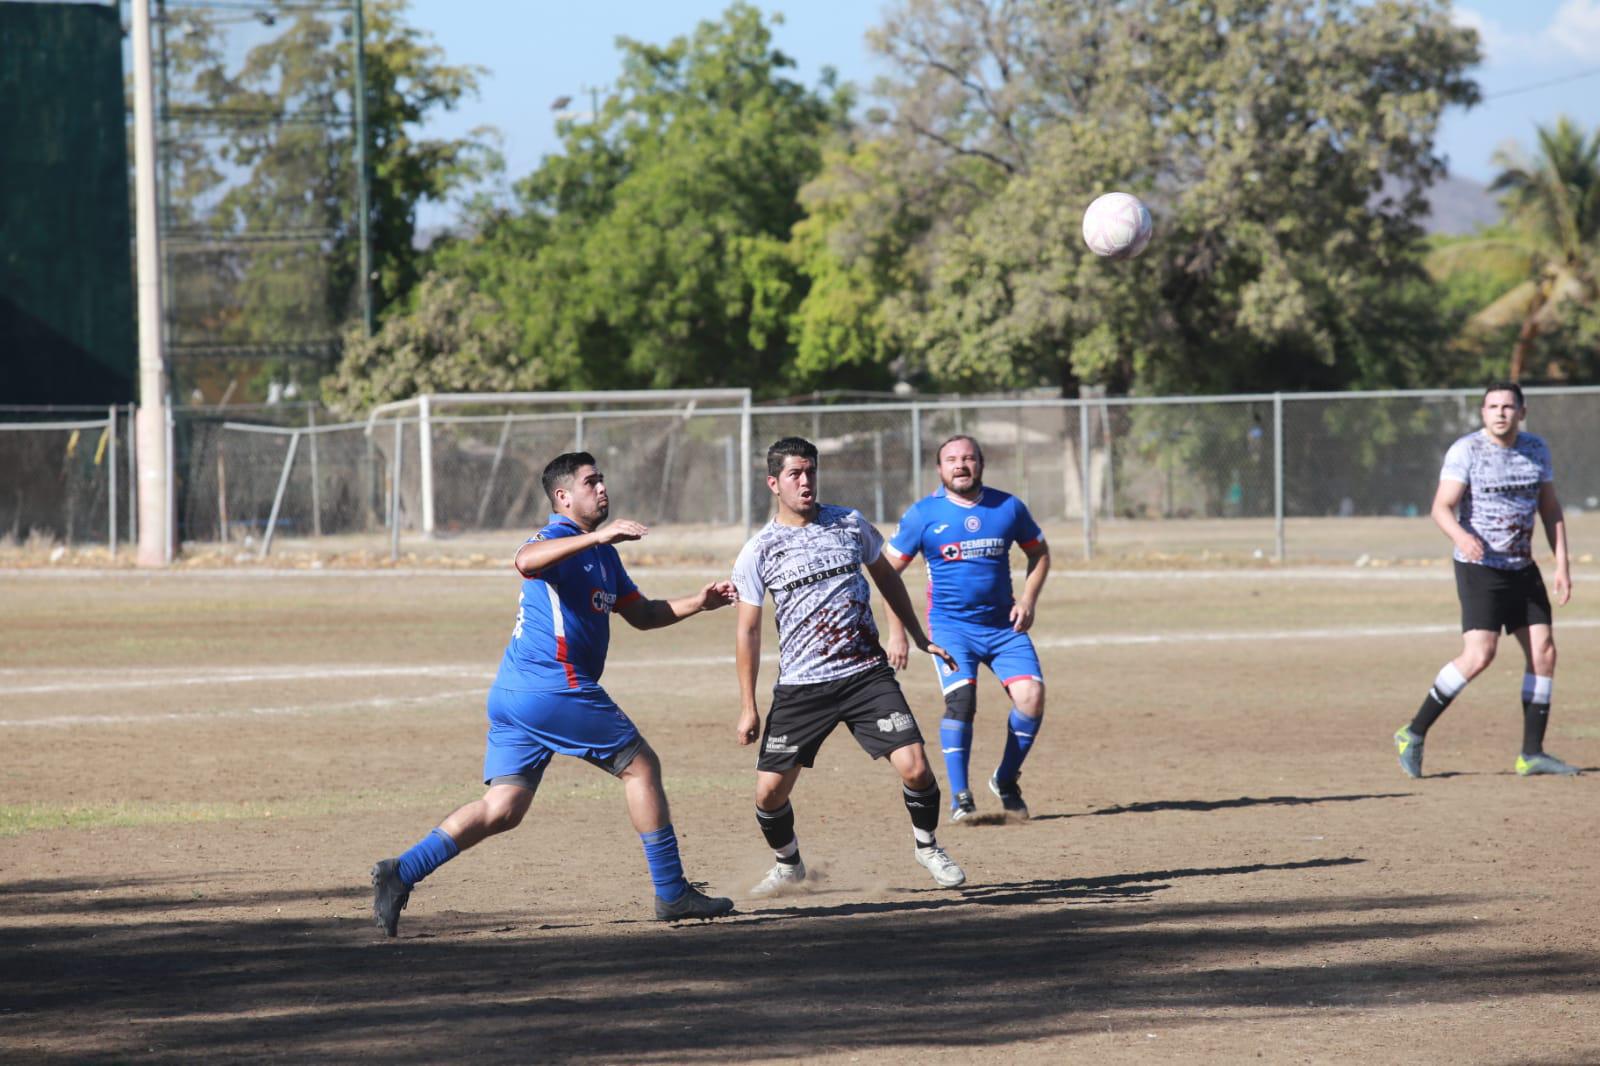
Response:
[[[1555,498],[1555,472],[1544,440],[1520,431],[1528,408],[1522,386],[1496,381],[1483,392],[1483,429],[1470,432],[1445,453],[1434,495],[1434,522],[1456,546],[1456,595],[1461,600],[1462,648],[1434,679],[1410,725],[1395,731],[1400,768],[1422,776],[1422,738],[1482,674],[1499,643],[1501,631],[1522,645],[1522,754],[1517,773],[1574,775],[1544,751],[1555,680],[1555,635],[1550,597],[1533,562],[1534,515],[1555,552],[1555,602],[1573,595],[1566,562],[1566,520]]]

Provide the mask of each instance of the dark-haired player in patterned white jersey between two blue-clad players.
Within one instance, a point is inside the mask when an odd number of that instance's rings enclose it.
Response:
[[[934,839],[939,779],[928,768],[917,719],[878,645],[862,567],[917,647],[949,656],[922,632],[906,586],[883,557],[878,531],[859,511],[818,503],[811,442],[784,437],[773,443],[766,450],[766,487],[778,496],[778,517],[750,538],[733,565],[739,592],[741,744],[755,743],[762,728],[755,677],[768,592],[778,613],[778,683],[755,760],[755,821],[778,861],[750,895],[779,895],[805,880],[789,795],[800,768],[814,765],[822,741],[840,723],[869,755],[888,759],[899,773],[912,855],[934,884],[955,888],[966,874]]]

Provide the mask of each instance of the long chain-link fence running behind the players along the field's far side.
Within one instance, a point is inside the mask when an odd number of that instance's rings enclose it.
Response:
[[[752,405],[744,391],[469,400],[430,397],[334,424],[307,405],[176,408],[179,535],[258,555],[277,538],[357,536],[398,555],[474,531],[520,533],[549,512],[541,469],[574,448],[598,459],[618,514],[749,530],[771,509],[766,445],[786,435],[818,445],[824,499],[893,525],[938,487],[938,445],[970,434],[986,482],[1027,501],[1058,552],[1429,557],[1442,552],[1437,531],[1403,520],[1426,519],[1445,448],[1480,427],[1478,391],[794,407]],[[1530,389],[1528,402],[1526,429],[1550,442],[1568,512],[1600,507],[1600,387]],[[0,535],[128,538],[130,423],[122,413],[0,426]]]

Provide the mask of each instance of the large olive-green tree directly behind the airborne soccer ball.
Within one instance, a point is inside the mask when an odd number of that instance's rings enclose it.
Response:
[[[1418,219],[1438,115],[1477,99],[1475,37],[1446,5],[906,0],[875,42],[896,69],[880,150],[933,189],[901,226],[922,274],[883,325],[934,381],[1216,392],[1432,373]],[[1109,189],[1155,214],[1136,261],[1083,248],[1083,206]],[[827,243],[883,227],[864,232]]]

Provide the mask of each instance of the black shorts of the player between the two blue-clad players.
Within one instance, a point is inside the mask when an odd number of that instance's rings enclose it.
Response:
[[[816,765],[816,752],[840,722],[874,759],[922,743],[894,671],[878,664],[838,680],[774,685],[755,768],[781,773]]]

